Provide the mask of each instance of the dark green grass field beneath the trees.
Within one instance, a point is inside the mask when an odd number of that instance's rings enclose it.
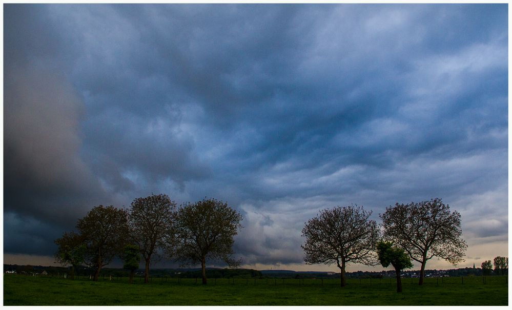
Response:
[[[4,275],[4,305],[508,305],[505,277],[403,279],[153,278],[151,283]],[[255,282],[256,281],[256,282]],[[371,282],[370,282],[371,281]]]

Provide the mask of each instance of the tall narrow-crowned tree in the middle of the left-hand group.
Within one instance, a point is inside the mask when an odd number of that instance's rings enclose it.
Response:
[[[176,202],[166,194],[151,195],[133,200],[129,215],[130,235],[146,263],[144,283],[149,282],[149,265],[154,254],[165,244],[172,230]]]

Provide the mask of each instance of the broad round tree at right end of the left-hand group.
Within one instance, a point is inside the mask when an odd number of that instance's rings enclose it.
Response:
[[[207,258],[221,259],[232,267],[239,264],[231,256],[241,220],[242,215],[228,203],[213,198],[185,203],[177,212],[177,241],[168,253],[184,265],[201,263],[202,284],[207,284]]]

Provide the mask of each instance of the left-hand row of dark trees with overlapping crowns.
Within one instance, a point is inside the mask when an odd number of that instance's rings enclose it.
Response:
[[[101,267],[119,257],[131,271],[130,282],[142,258],[147,283],[150,264],[166,255],[182,266],[200,263],[206,284],[207,259],[220,259],[230,266],[239,263],[232,249],[241,220],[240,213],[213,198],[185,203],[179,209],[165,194],[136,198],[130,209],[98,205],[77,221],[78,233],[64,233],[55,240],[55,258],[71,265],[71,279],[76,266],[92,266],[97,281]]]

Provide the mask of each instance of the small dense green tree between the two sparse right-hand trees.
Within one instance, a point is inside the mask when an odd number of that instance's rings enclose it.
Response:
[[[393,246],[393,242],[380,241],[377,243],[377,255],[383,267],[390,264],[395,268],[397,277],[397,293],[402,293],[402,278],[400,271],[405,268],[412,268],[411,258],[403,249]]]

